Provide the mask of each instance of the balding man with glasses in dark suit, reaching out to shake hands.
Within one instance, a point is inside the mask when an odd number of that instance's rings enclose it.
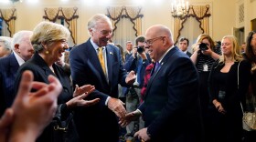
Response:
[[[126,125],[129,118],[142,114],[145,127],[134,135],[142,141],[202,141],[195,66],[173,46],[171,32],[165,25],[151,26],[145,38],[149,55],[156,62],[154,73],[148,82],[144,103],[126,115],[121,124]]]

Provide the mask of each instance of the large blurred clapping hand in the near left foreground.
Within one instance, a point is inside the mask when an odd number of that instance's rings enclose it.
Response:
[[[12,105],[14,121],[10,129],[10,141],[35,141],[51,121],[62,86],[55,76],[48,76],[48,82],[49,85],[33,82],[32,72],[23,73]],[[31,88],[37,91],[30,92]]]

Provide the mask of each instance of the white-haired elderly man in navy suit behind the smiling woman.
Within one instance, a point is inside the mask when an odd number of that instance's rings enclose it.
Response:
[[[14,100],[14,83],[18,67],[34,54],[29,40],[30,35],[32,35],[32,31],[17,32],[12,41],[13,53],[0,59],[0,116],[6,107],[12,105]]]

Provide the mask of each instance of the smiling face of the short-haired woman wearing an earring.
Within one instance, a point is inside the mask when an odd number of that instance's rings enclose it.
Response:
[[[61,56],[65,53],[65,49],[68,49],[68,43],[65,39],[57,40],[48,43],[47,49],[48,54],[45,54],[48,58],[48,61],[51,63],[61,60]]]

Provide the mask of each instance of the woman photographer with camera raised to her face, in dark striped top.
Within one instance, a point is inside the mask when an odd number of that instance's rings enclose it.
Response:
[[[220,46],[216,45],[212,38],[207,34],[201,34],[197,37],[197,42],[192,46],[193,54],[190,59],[197,67],[199,74],[199,98],[205,128],[206,138],[210,135],[208,120],[208,76],[213,63],[219,59],[221,54]],[[208,141],[209,139],[206,139]]]

